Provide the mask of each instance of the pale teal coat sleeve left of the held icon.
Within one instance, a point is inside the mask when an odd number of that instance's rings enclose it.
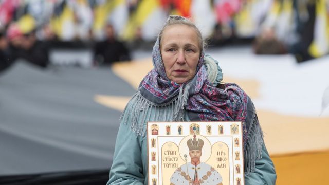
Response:
[[[142,185],[145,177],[141,158],[139,136],[121,123],[107,185]]]

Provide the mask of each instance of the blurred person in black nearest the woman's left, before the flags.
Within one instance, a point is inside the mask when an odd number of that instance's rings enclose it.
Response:
[[[96,62],[109,65],[117,61],[130,60],[130,52],[122,42],[117,40],[113,26],[107,24],[104,31],[105,40],[96,42],[94,47]]]

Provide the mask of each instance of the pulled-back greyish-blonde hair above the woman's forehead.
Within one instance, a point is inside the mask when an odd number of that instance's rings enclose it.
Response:
[[[165,31],[165,29],[168,26],[176,25],[176,24],[178,24],[178,25],[187,25],[187,26],[193,28],[195,30],[196,34],[197,34],[197,37],[198,37],[199,48],[200,48],[201,51],[204,50],[205,43],[204,43],[204,41],[202,39],[202,35],[201,35],[200,30],[190,20],[188,20],[185,17],[178,16],[178,15],[170,15],[168,17],[165,25],[162,26],[162,28],[160,30],[160,33],[159,33],[159,41],[160,41],[160,43],[161,43],[161,38],[162,38],[163,31]]]

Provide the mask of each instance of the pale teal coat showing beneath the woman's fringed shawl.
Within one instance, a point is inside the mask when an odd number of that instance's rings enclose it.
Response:
[[[134,103],[134,98],[129,104],[131,105],[132,103]],[[129,108],[130,105],[127,105],[127,107]],[[161,111],[166,110],[161,110],[161,107],[157,109],[153,107],[149,111],[150,115],[148,117],[153,118],[156,112],[159,113]],[[185,120],[190,121],[187,115],[185,115]],[[146,122],[143,123],[143,130],[146,130],[146,124]],[[141,136],[133,132],[131,124],[121,122],[107,185],[147,185],[149,175],[147,151],[147,136]],[[268,155],[265,145],[263,145],[262,158],[255,161],[254,172],[245,176],[245,184],[270,185],[275,184],[276,178],[277,175],[273,162]]]

